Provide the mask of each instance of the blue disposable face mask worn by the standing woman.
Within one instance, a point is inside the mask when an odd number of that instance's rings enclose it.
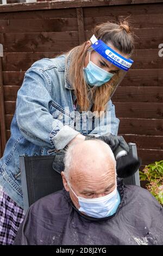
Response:
[[[89,55],[89,64],[84,68],[84,78],[87,84],[90,86],[102,86],[102,84],[108,82],[114,74],[99,68],[90,60]]]

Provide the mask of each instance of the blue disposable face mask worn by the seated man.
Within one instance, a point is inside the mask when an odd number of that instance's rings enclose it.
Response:
[[[70,186],[70,184],[68,185]],[[73,190],[72,192],[74,193]],[[87,216],[94,218],[105,218],[115,214],[118,205],[121,202],[120,194],[117,191],[117,186],[115,187],[114,191],[104,197],[83,198],[77,196],[76,193],[74,193],[74,195],[78,198],[80,205],[79,211],[84,212],[84,214]]]

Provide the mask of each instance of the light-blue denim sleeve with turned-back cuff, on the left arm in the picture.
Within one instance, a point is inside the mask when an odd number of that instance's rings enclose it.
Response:
[[[17,125],[28,141],[59,150],[79,132],[52,117],[49,113],[51,102],[51,80],[46,71],[28,69],[17,93]]]

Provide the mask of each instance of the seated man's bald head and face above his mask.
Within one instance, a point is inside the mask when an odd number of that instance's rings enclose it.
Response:
[[[111,193],[116,186],[116,161],[108,144],[88,140],[72,144],[65,156],[64,186],[80,197],[96,198]],[[68,182],[67,182],[68,181]]]

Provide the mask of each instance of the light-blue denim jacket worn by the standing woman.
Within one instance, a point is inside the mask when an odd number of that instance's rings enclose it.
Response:
[[[76,96],[68,81],[70,61],[65,55],[38,60],[26,71],[18,90],[11,137],[0,160],[0,186],[21,207],[19,156],[53,155],[79,133],[117,135],[119,119],[111,100],[108,118],[104,115],[99,120],[91,112],[74,112]]]

